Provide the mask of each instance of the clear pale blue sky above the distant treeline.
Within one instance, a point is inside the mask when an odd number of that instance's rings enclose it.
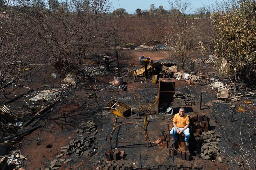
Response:
[[[119,2],[118,2],[119,1]],[[219,0],[190,0],[191,2],[191,10],[189,13],[193,13],[196,11],[197,8],[203,6],[209,6],[214,4],[216,1]],[[168,4],[168,0],[112,0],[112,6],[114,9],[124,8],[129,14],[133,14],[137,8],[140,9],[147,9],[149,10],[150,4],[155,4],[156,8],[160,5],[164,7],[164,9],[169,10],[170,6]]]

